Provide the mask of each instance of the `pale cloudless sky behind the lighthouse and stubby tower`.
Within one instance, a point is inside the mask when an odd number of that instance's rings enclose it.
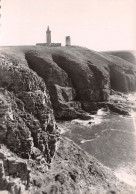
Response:
[[[52,42],[96,51],[136,49],[136,0],[1,0],[0,45]]]

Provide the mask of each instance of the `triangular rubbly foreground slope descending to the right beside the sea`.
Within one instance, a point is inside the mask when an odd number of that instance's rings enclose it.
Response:
[[[72,153],[72,154],[71,154]],[[133,193],[124,183],[120,183],[110,169],[90,157],[69,139],[60,139],[50,169],[36,182],[37,192],[41,193]],[[39,183],[42,187],[38,188]]]

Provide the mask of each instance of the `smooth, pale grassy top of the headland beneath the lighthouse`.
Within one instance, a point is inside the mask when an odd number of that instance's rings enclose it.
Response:
[[[36,46],[13,46],[13,47],[0,47],[2,52],[6,52],[9,55],[24,59],[24,54],[27,52],[37,52],[39,56],[48,57],[51,59],[53,54],[63,55],[70,57],[71,60],[78,60],[80,62],[91,60],[97,65],[116,64],[127,65],[130,68],[134,68],[132,63],[125,60],[121,60],[120,57],[114,57],[111,54],[114,52],[96,52],[83,47],[71,46],[71,47],[36,47]],[[120,61],[120,62],[119,62]]]

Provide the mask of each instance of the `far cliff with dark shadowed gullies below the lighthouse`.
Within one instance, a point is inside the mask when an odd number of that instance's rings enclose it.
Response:
[[[85,118],[83,111],[108,102],[112,89],[136,90],[135,65],[115,56],[69,47],[37,48],[26,51],[25,58],[44,79],[57,119]]]

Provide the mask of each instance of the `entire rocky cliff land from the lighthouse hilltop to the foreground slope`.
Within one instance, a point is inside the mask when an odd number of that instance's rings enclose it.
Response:
[[[113,83],[114,71],[127,85],[124,92],[135,90],[135,66],[112,56],[80,47],[2,48],[1,190],[133,193],[110,169],[60,137],[54,118],[88,118],[90,103],[107,102],[111,89],[122,88]]]

